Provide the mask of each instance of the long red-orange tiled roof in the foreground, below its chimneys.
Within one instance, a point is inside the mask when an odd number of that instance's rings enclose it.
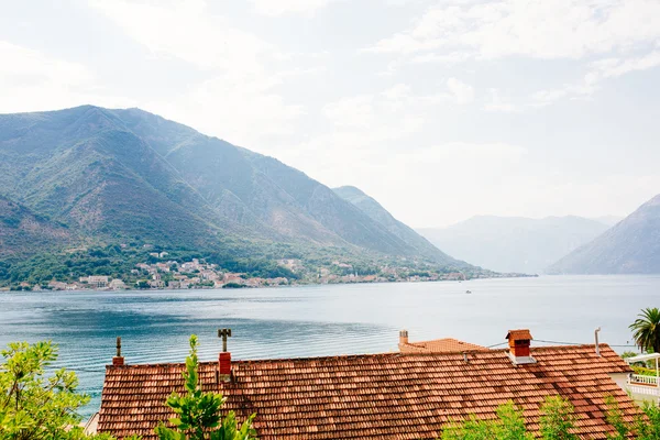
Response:
[[[514,366],[506,350],[374,354],[232,363],[233,381],[216,384],[217,363],[200,364],[206,391],[222,392],[240,420],[256,413],[260,439],[436,439],[442,427],[474,414],[494,418],[514,400],[538,430],[546,396],[561,395],[578,414],[581,439],[604,439],[604,398],[630,420],[637,409],[610,378],[629,366],[609,346],[535,348],[536,364]],[[184,364],[108,366],[99,432],[119,438],[153,428],[172,414],[163,405],[183,393]]]

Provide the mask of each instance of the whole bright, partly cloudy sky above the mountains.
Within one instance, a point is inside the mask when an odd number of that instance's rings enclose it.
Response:
[[[660,0],[0,0],[0,112],[139,107],[413,227],[660,193]]]

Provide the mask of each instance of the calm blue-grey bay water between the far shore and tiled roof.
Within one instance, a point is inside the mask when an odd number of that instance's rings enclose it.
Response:
[[[466,290],[472,294],[468,295]],[[122,337],[128,363],[183,362],[189,334],[216,360],[218,328],[231,328],[233,359],[299,358],[396,350],[453,337],[482,345],[529,328],[535,344],[601,341],[631,350],[628,324],[660,306],[659,276],[546,276],[471,282],[264,289],[0,294],[0,345],[50,339],[58,365],[78,372],[97,410],[105,365]]]

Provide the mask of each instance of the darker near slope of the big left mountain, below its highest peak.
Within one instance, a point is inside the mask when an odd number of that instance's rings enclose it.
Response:
[[[13,122],[13,130],[4,130]],[[0,117],[0,182],[31,209],[102,238],[199,245],[212,211],[120,120],[84,107]]]

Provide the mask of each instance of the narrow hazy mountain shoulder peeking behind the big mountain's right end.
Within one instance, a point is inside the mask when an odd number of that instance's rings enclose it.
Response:
[[[392,234],[398,237],[400,240],[415,248],[417,254],[425,255],[437,261],[442,261],[448,264],[464,264],[463,262],[458,262],[457,260],[447,255],[431,244],[427,239],[415,232],[413,228],[407,227],[395,219],[385,208],[383,208],[383,206],[381,206],[381,204],[354,186],[333,188],[333,191],[342,199],[353,204],[361,211],[366,213],[372,220],[377,221]]]

